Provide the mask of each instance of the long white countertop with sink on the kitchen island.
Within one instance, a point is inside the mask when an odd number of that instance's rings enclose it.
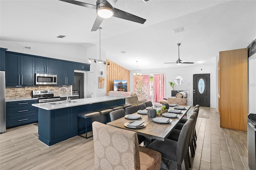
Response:
[[[34,107],[38,107],[45,110],[54,110],[54,109],[62,109],[66,107],[74,107],[74,106],[80,106],[80,105],[87,105],[92,103],[100,103],[105,101],[113,101],[118,99],[125,99],[131,96],[102,96],[102,97],[92,97],[92,98],[85,98],[85,99],[74,99],[74,103],[62,103],[65,101],[54,101],[54,102],[48,102],[48,103],[36,103],[32,104]],[[51,103],[62,103],[58,105],[52,105]]]

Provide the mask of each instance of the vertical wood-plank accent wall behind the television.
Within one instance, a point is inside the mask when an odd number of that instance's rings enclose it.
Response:
[[[106,59],[110,65],[106,65],[106,93],[114,90],[114,80],[127,80],[127,91],[130,91],[130,70]]]

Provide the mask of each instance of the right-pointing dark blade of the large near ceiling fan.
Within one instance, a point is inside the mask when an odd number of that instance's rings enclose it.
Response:
[[[144,24],[144,22],[146,21],[143,18],[140,18],[140,17],[135,16],[133,14],[130,14],[128,12],[124,12],[122,10],[118,10],[116,8],[114,8],[113,12],[114,12],[113,16],[116,17],[116,18],[122,18],[124,20],[129,20],[129,21],[132,21],[132,22],[138,22],[140,24]]]

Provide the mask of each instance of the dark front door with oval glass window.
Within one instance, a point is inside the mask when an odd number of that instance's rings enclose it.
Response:
[[[210,74],[193,75],[193,105],[210,107]]]

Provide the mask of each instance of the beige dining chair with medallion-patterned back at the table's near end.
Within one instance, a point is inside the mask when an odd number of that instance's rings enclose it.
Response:
[[[139,146],[137,133],[92,123],[94,169],[160,170],[161,153]]]

